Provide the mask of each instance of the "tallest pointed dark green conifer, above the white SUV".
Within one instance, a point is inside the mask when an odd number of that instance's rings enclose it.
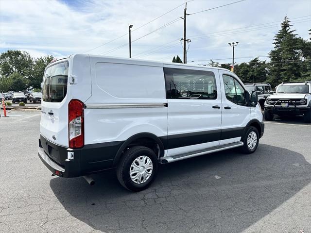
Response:
[[[274,86],[301,78],[301,38],[294,34],[295,30],[291,30],[291,26],[286,16],[275,35],[274,49],[269,53],[271,62],[268,82]]]

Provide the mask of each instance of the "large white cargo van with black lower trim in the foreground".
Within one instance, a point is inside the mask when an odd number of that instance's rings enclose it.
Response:
[[[139,191],[158,163],[252,153],[263,132],[257,92],[223,68],[76,54],[45,70],[38,155],[60,177],[116,168]]]

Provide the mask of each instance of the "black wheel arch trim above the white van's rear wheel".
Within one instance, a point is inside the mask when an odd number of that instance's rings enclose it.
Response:
[[[119,163],[124,151],[134,146],[144,146],[150,148],[151,150],[155,151],[156,155],[158,155],[157,150],[159,150],[160,153],[158,157],[163,157],[164,155],[164,145],[158,136],[153,133],[138,133],[123,142],[123,144],[116,153],[115,159],[113,161],[113,166],[116,166]]]

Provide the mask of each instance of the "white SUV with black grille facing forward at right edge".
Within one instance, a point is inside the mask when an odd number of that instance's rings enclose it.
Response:
[[[303,115],[311,123],[311,81],[283,82],[276,87],[264,103],[264,118],[273,120],[274,115]]]

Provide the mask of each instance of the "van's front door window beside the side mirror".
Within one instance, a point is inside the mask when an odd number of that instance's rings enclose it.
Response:
[[[242,85],[235,78],[228,75],[223,75],[223,80],[227,100],[238,105],[246,105],[245,90]]]

